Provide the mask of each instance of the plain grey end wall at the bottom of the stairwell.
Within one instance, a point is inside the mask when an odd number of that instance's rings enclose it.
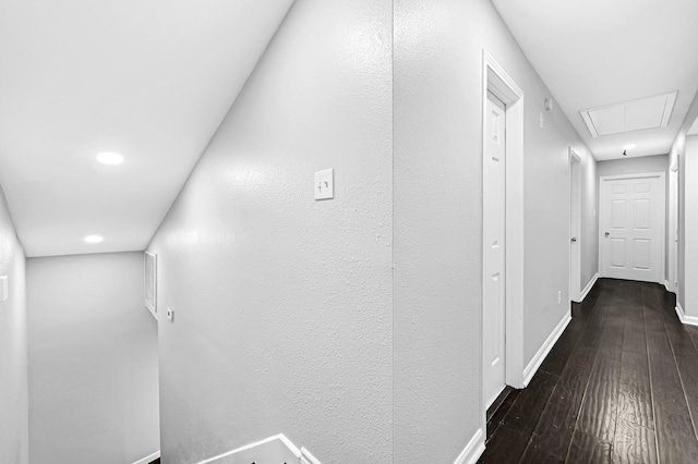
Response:
[[[27,288],[32,464],[129,464],[157,451],[143,253],[29,258]]]

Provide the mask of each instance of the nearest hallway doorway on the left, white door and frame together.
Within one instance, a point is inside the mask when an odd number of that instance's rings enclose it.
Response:
[[[483,50],[482,427],[508,384],[524,388],[524,93]],[[493,149],[495,151],[493,151]]]

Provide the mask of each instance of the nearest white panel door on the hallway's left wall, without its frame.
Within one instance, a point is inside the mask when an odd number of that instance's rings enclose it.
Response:
[[[488,94],[483,164],[483,356],[486,407],[505,387],[505,106]]]

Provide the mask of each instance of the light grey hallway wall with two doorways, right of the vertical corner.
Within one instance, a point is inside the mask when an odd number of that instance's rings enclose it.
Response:
[[[582,277],[598,268],[595,161],[491,2],[395,1],[395,463],[452,463],[483,425],[483,48],[525,93],[527,364],[569,310],[570,146]]]

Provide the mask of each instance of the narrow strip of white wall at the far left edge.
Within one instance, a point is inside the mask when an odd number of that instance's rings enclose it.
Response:
[[[9,297],[0,302],[0,463],[28,463],[25,258],[0,188],[0,276]]]

